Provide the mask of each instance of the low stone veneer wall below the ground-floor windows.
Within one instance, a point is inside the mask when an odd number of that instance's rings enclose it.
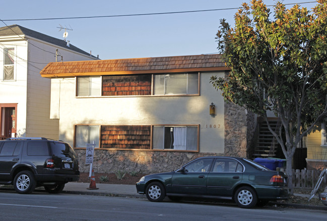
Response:
[[[80,160],[80,172],[89,172],[90,165],[85,165],[85,150],[75,149],[75,152]],[[160,173],[176,170],[198,157],[216,155],[213,153],[96,149],[93,169],[96,173],[113,173],[117,170],[135,171],[137,173]]]

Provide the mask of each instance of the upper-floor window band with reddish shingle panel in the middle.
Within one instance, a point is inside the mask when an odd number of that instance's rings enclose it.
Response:
[[[197,95],[199,73],[78,77],[77,96]]]

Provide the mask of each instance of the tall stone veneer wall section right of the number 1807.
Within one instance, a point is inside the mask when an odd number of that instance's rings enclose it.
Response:
[[[256,127],[255,115],[244,107],[225,103],[225,155],[249,157]]]

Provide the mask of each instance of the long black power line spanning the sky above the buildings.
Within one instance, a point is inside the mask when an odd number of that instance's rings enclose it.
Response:
[[[288,5],[297,5],[297,4],[308,4],[316,2],[303,2],[303,3],[288,3]],[[268,5],[267,7],[273,7],[275,5]],[[226,9],[208,9],[208,10],[193,10],[193,11],[181,11],[181,12],[163,12],[163,13],[145,13],[145,14],[127,14],[127,15],[112,15],[112,16],[81,16],[81,17],[63,17],[63,18],[43,18],[43,19],[7,19],[2,20],[3,22],[12,22],[12,21],[37,21],[37,20],[65,20],[65,19],[94,19],[94,18],[113,18],[113,17],[130,17],[130,16],[151,16],[151,15],[169,15],[169,14],[182,14],[182,13],[197,13],[197,12],[213,12],[213,11],[225,11],[225,10],[235,10],[241,9],[242,7],[237,8],[226,8]]]

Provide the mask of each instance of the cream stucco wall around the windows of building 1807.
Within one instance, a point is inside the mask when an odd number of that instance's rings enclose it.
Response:
[[[200,152],[224,153],[224,101],[201,73],[200,96],[75,97],[75,78],[52,79],[59,94],[59,139],[73,145],[74,125],[200,125]],[[60,84],[60,86],[58,86]],[[60,99],[59,99],[60,98]],[[52,102],[52,100],[51,100]],[[216,116],[209,105],[216,105]],[[52,111],[51,111],[52,113]],[[54,114],[55,115],[55,114]]]

